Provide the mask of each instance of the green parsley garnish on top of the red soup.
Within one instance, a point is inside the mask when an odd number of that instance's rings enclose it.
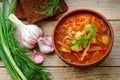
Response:
[[[87,25],[85,25],[84,30],[87,32],[88,35],[86,35],[86,34],[77,35],[77,38],[75,37],[71,41],[71,43],[68,44],[68,46],[71,47],[71,46],[78,45],[77,46],[78,48],[81,48],[81,47],[85,48],[88,45],[89,40],[91,41],[94,38],[97,30],[96,30],[95,24],[87,24]],[[79,39],[79,37],[81,37],[81,39]]]

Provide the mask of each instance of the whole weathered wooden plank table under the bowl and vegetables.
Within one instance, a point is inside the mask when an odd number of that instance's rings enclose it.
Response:
[[[69,11],[78,8],[88,8],[102,13],[114,29],[114,45],[110,55],[100,65],[88,69],[71,67],[54,54],[42,54],[45,57],[44,66],[51,72],[52,80],[120,80],[120,0],[65,0]],[[44,36],[51,36],[56,21],[42,21],[39,26]],[[19,35],[17,32],[16,35]],[[20,39],[20,35],[18,37]],[[37,49],[38,50],[38,49]],[[28,56],[33,57],[28,50]],[[9,72],[0,61],[0,80],[12,80]]]

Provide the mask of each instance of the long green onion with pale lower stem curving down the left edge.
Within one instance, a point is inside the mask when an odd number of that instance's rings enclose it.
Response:
[[[6,22],[5,22],[5,8],[6,8],[6,0],[3,1],[2,4],[2,11],[0,10],[0,21],[1,21],[1,26],[0,26],[0,40],[1,40],[1,45],[3,47],[4,52],[6,53],[6,57],[9,60],[9,63],[11,63],[12,67],[17,71],[17,73],[21,76],[22,79],[26,80],[26,77],[23,75],[23,73],[21,72],[21,70],[18,68],[18,66],[16,65],[11,51],[8,47],[8,40],[7,40],[7,35],[6,35]],[[1,53],[2,54],[2,53]],[[19,79],[18,79],[19,80]]]

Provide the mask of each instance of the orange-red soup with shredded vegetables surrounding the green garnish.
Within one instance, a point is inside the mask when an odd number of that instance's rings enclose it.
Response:
[[[86,47],[82,47],[82,50],[74,51],[69,46],[69,38],[66,39],[66,37],[70,33],[73,37],[77,32],[84,33],[85,31],[83,29],[87,24],[95,25],[96,34],[94,35],[94,42],[88,40],[89,48],[84,55],[88,44]],[[72,30],[69,30],[70,27]],[[85,35],[88,35],[88,33]],[[110,35],[109,27],[102,18],[94,14],[75,14],[65,18],[57,27],[55,32],[55,45],[61,56],[67,61],[75,64],[88,64],[99,60],[105,55],[110,44]],[[64,50],[62,50],[62,47],[64,47]]]

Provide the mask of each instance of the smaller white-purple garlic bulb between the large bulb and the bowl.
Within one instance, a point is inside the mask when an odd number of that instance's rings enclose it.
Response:
[[[42,53],[50,53],[54,50],[51,37],[39,38],[38,44]]]

